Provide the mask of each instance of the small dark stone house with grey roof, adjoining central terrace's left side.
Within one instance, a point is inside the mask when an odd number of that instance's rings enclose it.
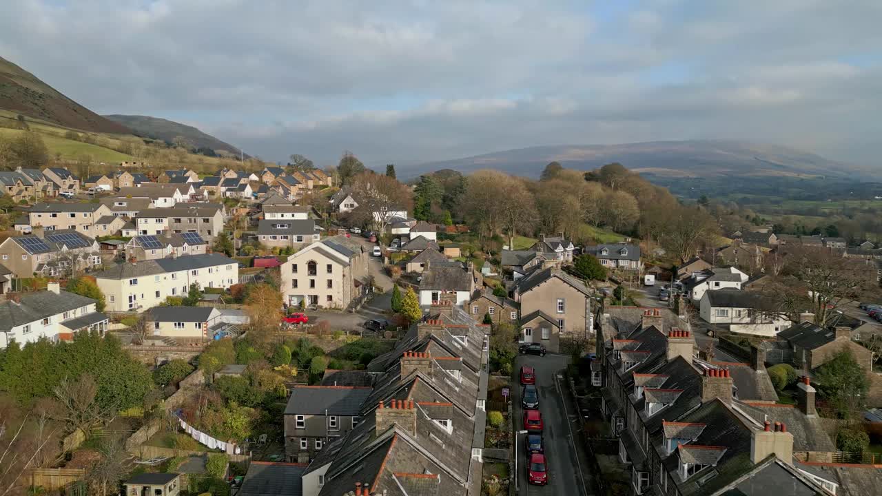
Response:
[[[371,387],[295,386],[285,407],[285,454],[314,457],[325,444],[358,425]]]

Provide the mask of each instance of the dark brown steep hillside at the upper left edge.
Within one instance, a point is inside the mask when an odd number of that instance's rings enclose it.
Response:
[[[123,124],[86,109],[3,57],[0,57],[0,109],[81,131],[130,133]]]

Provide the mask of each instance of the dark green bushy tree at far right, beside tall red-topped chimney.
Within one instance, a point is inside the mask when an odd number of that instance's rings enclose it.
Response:
[[[815,371],[820,393],[848,422],[863,415],[870,381],[848,349],[842,349],[833,359]]]

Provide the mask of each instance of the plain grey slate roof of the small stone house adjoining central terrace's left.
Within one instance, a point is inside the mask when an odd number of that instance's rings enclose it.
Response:
[[[295,386],[285,415],[340,415],[354,417],[370,396],[370,387]]]

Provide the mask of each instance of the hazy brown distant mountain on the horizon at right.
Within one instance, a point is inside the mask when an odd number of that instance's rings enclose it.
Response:
[[[623,145],[528,147],[443,162],[422,163],[411,173],[437,169],[471,172],[500,169],[539,177],[549,162],[590,170],[620,162],[647,177],[879,177],[880,171],[835,162],[817,154],[775,145],[738,141],[653,141]]]

